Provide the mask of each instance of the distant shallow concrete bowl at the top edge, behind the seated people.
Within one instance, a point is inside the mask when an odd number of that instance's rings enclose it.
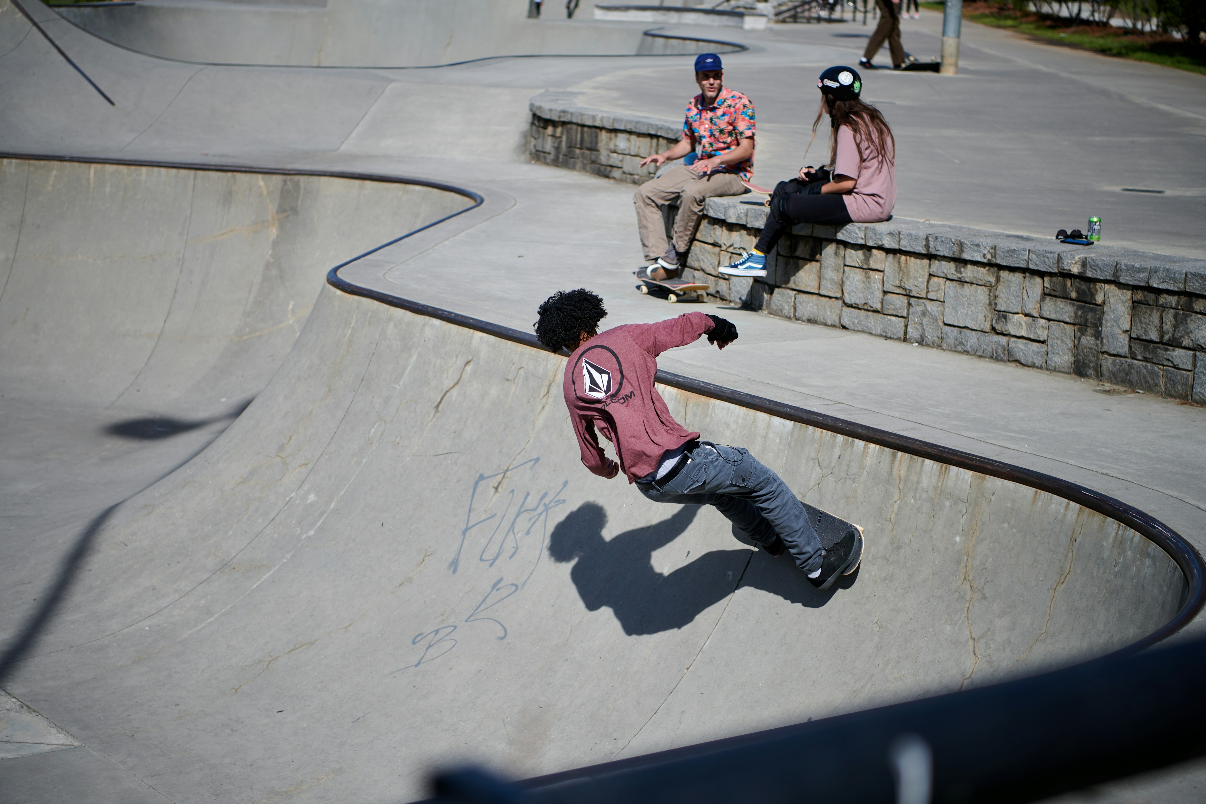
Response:
[[[648,24],[528,19],[526,4],[511,0],[140,0],[54,11],[113,45],[200,64],[423,68],[503,57],[745,49],[718,37]]]

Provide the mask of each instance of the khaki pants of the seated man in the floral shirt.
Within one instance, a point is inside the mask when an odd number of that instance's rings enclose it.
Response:
[[[674,218],[674,248],[685,252],[695,239],[695,229],[703,215],[703,205],[716,195],[740,195],[745,192],[737,174],[713,174],[699,178],[690,168],[671,168],[657,178],[650,178],[632,196],[637,207],[637,229],[640,231],[640,248],[646,262],[654,262],[666,253],[666,221],[661,207],[679,203]]]

